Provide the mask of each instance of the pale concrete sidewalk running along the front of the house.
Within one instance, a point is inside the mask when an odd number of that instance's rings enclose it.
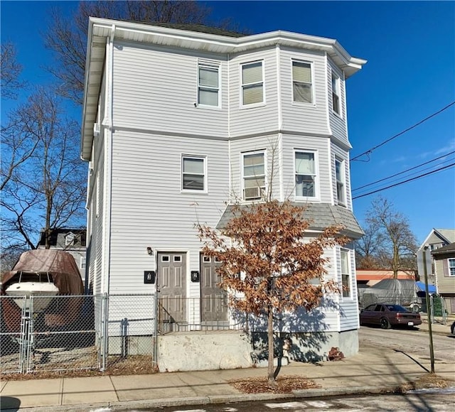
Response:
[[[433,332],[446,333],[449,325],[433,325]],[[425,323],[421,330],[425,329]],[[455,341],[454,341],[455,342]],[[302,364],[291,362],[280,376],[299,375],[313,379],[321,389],[296,391],[291,395],[241,394],[228,381],[265,376],[266,369],[233,369],[205,372],[174,372],[135,376],[1,381],[1,411],[84,411],[95,408],[127,410],[159,406],[200,405],[226,401],[249,401],[292,397],[394,391],[416,381],[429,371],[428,357],[410,357],[380,347],[360,347],[354,357],[338,362]],[[455,379],[455,364],[437,361],[435,372]],[[33,408],[33,409],[32,409]]]

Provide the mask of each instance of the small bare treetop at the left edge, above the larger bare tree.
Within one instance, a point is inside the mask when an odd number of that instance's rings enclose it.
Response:
[[[22,65],[17,61],[16,47],[11,42],[1,44],[0,79],[1,97],[16,99],[18,90],[23,89],[26,83],[19,79]]]

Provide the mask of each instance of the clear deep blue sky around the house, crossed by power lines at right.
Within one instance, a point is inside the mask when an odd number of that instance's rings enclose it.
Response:
[[[454,1],[205,1],[212,18],[232,18],[251,33],[284,30],[335,38],[355,57],[368,60],[348,79],[348,128],[351,157],[417,124],[455,101]],[[50,6],[70,13],[75,1],[1,1],[1,41],[12,40],[31,83],[51,77],[42,70],[51,62],[41,34]],[[9,103],[2,102],[2,116]],[[79,111],[73,112],[79,116]],[[455,151],[455,105],[386,143],[360,161],[351,162],[352,188]],[[407,180],[454,163],[451,154]],[[432,168],[429,168],[433,166]],[[425,170],[424,170],[425,169]],[[407,176],[407,177],[406,177]],[[385,181],[361,195],[400,180]],[[455,168],[354,200],[360,223],[371,201],[382,195],[410,219],[418,242],[432,228],[455,228]]]

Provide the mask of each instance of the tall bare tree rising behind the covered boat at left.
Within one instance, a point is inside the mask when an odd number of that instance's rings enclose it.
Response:
[[[83,216],[78,135],[77,122],[63,115],[53,89],[38,88],[11,112],[1,130],[2,254],[35,249],[42,228],[48,248],[53,229]]]

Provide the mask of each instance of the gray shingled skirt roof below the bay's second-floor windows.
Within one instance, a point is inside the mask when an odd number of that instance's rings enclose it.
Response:
[[[323,230],[333,224],[343,224],[345,229],[341,234],[350,237],[350,239],[360,239],[363,236],[363,230],[355,219],[353,212],[346,209],[346,207],[328,205],[328,203],[292,203],[293,206],[304,207],[304,217],[308,219],[311,224],[310,230]],[[232,208],[234,206],[228,205],[223,216],[217,224],[217,229],[222,229],[234,217]],[[249,207],[249,205],[242,205]]]

